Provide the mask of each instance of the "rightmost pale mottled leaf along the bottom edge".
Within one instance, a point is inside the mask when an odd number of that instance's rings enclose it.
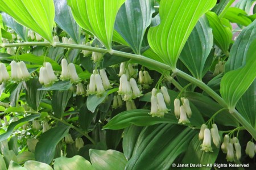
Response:
[[[115,150],[93,150],[90,149],[90,161],[92,162],[93,167],[96,170],[101,169],[112,169],[119,170],[125,169],[125,165],[127,160],[123,153],[115,151]]]

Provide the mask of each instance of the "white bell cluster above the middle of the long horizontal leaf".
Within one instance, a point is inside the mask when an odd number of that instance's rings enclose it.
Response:
[[[166,103],[170,103],[170,96],[165,88],[166,87],[161,87],[161,91],[156,90],[156,88],[152,89],[150,99],[151,111],[149,113],[152,117],[164,117],[164,114],[170,111],[170,109],[166,107]]]

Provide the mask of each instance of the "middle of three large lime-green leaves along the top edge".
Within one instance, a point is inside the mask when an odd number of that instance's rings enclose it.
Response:
[[[80,27],[111,50],[115,17],[123,2],[125,0],[68,0],[68,5]]]

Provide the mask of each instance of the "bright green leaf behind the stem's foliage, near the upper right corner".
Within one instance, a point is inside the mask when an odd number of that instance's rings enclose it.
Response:
[[[232,31],[229,27],[222,25],[221,20],[214,12],[207,12],[206,15],[212,28],[214,43],[223,53],[228,55],[229,44],[232,41]]]

